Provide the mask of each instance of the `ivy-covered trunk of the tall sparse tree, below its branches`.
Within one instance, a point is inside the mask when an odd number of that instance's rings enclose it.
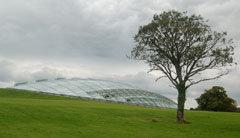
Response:
[[[178,109],[177,109],[177,122],[185,123],[184,120],[184,104],[186,101],[186,89],[184,85],[179,85],[178,88]]]

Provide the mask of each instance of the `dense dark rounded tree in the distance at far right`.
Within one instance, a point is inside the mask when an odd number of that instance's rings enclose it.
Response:
[[[237,103],[232,98],[229,98],[225,89],[220,86],[213,86],[209,90],[205,90],[199,98],[197,109],[207,111],[226,111],[235,112]]]

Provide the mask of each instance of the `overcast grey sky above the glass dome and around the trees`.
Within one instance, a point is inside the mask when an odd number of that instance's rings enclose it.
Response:
[[[153,14],[167,10],[201,14],[216,31],[227,31],[240,64],[239,0],[1,0],[0,87],[55,77],[117,80],[176,101],[167,79],[155,82],[143,62],[126,58],[133,36]],[[217,81],[193,86],[186,106],[220,85],[240,104],[240,68]]]

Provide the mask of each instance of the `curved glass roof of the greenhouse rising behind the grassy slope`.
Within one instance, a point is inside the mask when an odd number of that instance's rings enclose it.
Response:
[[[11,88],[141,106],[177,108],[175,102],[160,94],[128,84],[98,79],[42,79],[35,82],[16,83]]]

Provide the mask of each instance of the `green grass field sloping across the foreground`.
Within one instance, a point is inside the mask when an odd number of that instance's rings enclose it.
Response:
[[[0,138],[240,138],[240,113],[176,111],[0,89]],[[155,121],[152,121],[155,120]]]

